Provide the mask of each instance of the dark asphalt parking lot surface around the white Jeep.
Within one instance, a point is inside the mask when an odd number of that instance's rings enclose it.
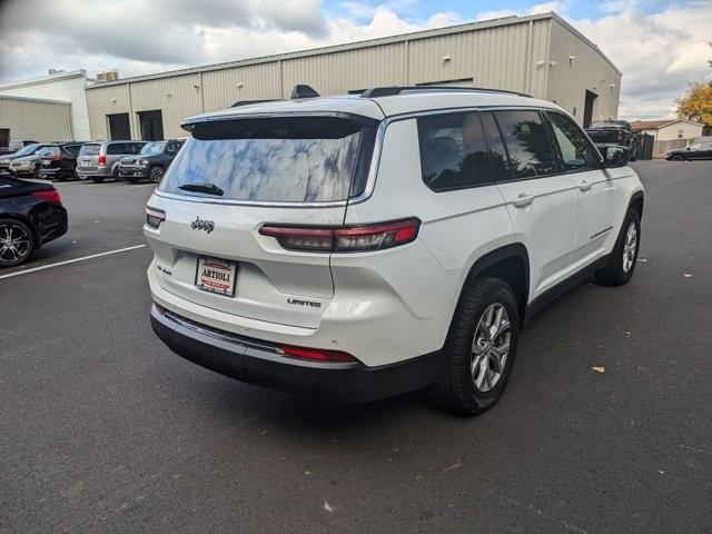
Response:
[[[58,185],[69,233],[0,273],[0,532],[712,532],[712,162],[634,167],[633,280],[536,316],[476,418],[182,360],[130,248],[151,186]]]

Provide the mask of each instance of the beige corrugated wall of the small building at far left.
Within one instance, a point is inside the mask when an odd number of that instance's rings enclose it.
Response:
[[[0,97],[0,128],[10,130],[10,140],[71,141],[71,103]]]

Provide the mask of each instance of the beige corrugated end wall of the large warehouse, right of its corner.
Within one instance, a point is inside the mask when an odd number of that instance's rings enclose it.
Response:
[[[616,118],[621,75],[585,41],[552,19],[546,99],[558,103],[581,123],[586,89],[597,95],[592,119]],[[570,59],[571,57],[575,59]],[[575,108],[575,110],[574,110]],[[575,113],[574,113],[575,111]]]

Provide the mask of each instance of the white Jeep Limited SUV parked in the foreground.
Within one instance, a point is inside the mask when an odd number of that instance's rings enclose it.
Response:
[[[477,414],[524,322],[594,274],[625,284],[643,187],[558,106],[376,88],[234,107],[146,208],[151,324],[245,382],[364,402],[429,386]]]

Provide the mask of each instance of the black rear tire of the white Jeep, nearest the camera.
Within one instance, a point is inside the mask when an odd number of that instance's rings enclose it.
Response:
[[[481,325],[484,326],[482,322],[486,314],[494,307],[497,307],[497,310],[501,308],[506,310],[510,324],[508,330],[505,332],[508,350],[504,366],[498,374],[488,356],[490,344],[486,345],[487,353],[477,355],[474,350],[475,336],[481,333]],[[504,314],[502,315],[504,316]],[[520,313],[514,291],[508,284],[498,278],[479,278],[468,284],[457,305],[445,343],[447,360],[439,377],[431,386],[434,399],[442,406],[465,415],[478,415],[494,406],[512,374],[518,333]],[[492,340],[493,347],[497,339],[504,343],[503,337],[495,336]],[[483,359],[486,373],[495,370],[495,375],[498,375],[496,379],[492,379],[494,386],[488,390],[482,390],[476,385],[477,378],[482,379],[485,376]],[[481,364],[477,364],[477,360]]]

